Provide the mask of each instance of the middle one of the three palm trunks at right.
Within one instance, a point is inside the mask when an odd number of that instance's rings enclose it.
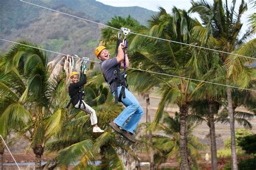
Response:
[[[215,123],[214,123],[214,113],[213,113],[213,104],[209,105],[210,112],[210,137],[211,137],[211,167],[212,170],[217,170],[217,147],[216,147],[216,138],[215,138]]]

